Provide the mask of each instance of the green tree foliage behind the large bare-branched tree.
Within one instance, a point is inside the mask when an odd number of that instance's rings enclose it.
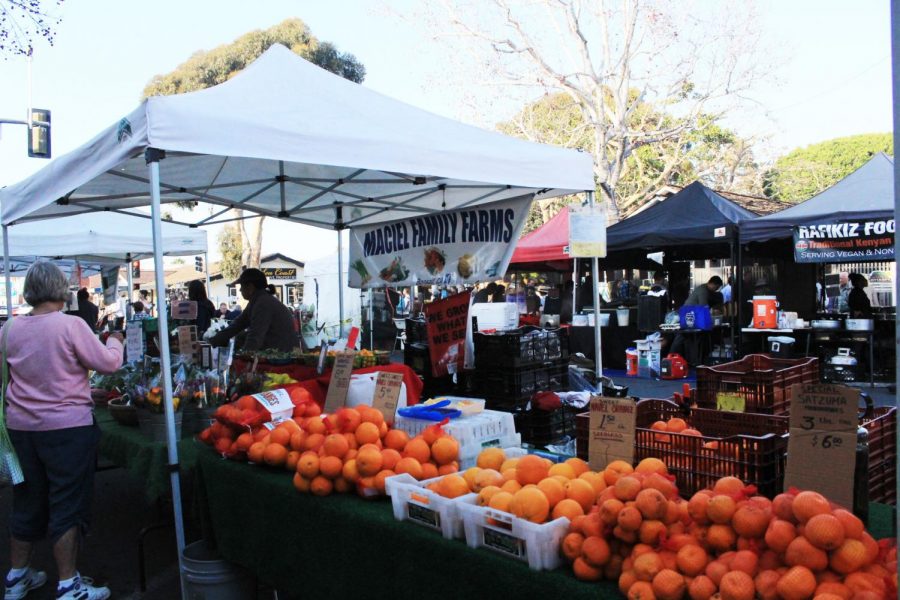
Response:
[[[640,102],[629,121],[629,128],[634,131],[677,126],[676,117]],[[569,148],[590,147],[593,135],[581,110],[565,93],[542,97],[497,128],[507,135]],[[640,208],[667,184],[687,185],[700,179],[715,189],[758,193],[760,178],[751,145],[722,127],[715,117],[701,115],[696,118],[696,126],[680,139],[639,146],[625,159],[614,188],[622,216]],[[608,148],[607,159],[613,160],[616,152],[616,148]],[[598,198],[602,198],[599,189]],[[535,202],[524,232],[540,227],[571,201],[558,198]]]

